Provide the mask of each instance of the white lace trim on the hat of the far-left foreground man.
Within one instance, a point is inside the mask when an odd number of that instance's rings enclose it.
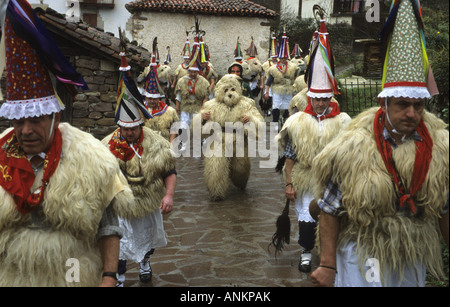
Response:
[[[64,110],[55,95],[27,99],[27,100],[7,100],[0,108],[0,117],[8,120],[39,117],[50,115]]]

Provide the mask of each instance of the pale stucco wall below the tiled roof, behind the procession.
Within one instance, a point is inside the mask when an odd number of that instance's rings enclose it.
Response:
[[[208,15],[200,15],[199,19],[200,29],[206,32],[204,42],[209,47],[211,63],[219,75],[225,74],[228,66],[233,63],[238,37],[244,52],[250,46],[253,36],[258,49],[258,59],[261,62],[267,60],[270,28],[261,25],[261,22],[267,22],[266,19]],[[153,39],[157,36],[161,61],[166,58],[166,47],[169,46],[173,61],[170,66],[175,70],[183,61],[181,51],[186,40],[186,30],[191,31],[194,24],[194,16],[190,14],[143,12],[133,18],[132,38],[144,48],[151,50]],[[193,38],[194,35],[190,34],[191,49]]]

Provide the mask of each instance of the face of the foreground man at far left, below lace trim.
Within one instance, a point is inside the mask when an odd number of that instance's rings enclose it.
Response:
[[[47,152],[53,142],[60,118],[60,113],[55,114],[51,133],[52,115],[12,120],[14,132],[23,151],[28,155]]]

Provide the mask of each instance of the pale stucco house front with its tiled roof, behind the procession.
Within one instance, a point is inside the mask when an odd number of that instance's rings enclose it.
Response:
[[[192,48],[192,31],[198,18],[210,61],[219,76],[234,62],[238,38],[245,50],[253,37],[259,60],[267,60],[270,20],[277,16],[275,11],[247,0],[138,0],[125,7],[132,14],[128,29],[131,27],[133,40],[151,49],[153,39],[158,37],[160,57],[165,58],[170,48],[173,69],[183,62],[186,32]]]

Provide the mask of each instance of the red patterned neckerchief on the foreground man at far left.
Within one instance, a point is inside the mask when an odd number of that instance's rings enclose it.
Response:
[[[33,211],[42,202],[50,177],[58,167],[61,158],[62,137],[59,129],[44,159],[42,185],[30,192],[36,176],[26,154],[19,147],[14,130],[0,140],[0,185],[13,195],[17,210],[22,214]]]

